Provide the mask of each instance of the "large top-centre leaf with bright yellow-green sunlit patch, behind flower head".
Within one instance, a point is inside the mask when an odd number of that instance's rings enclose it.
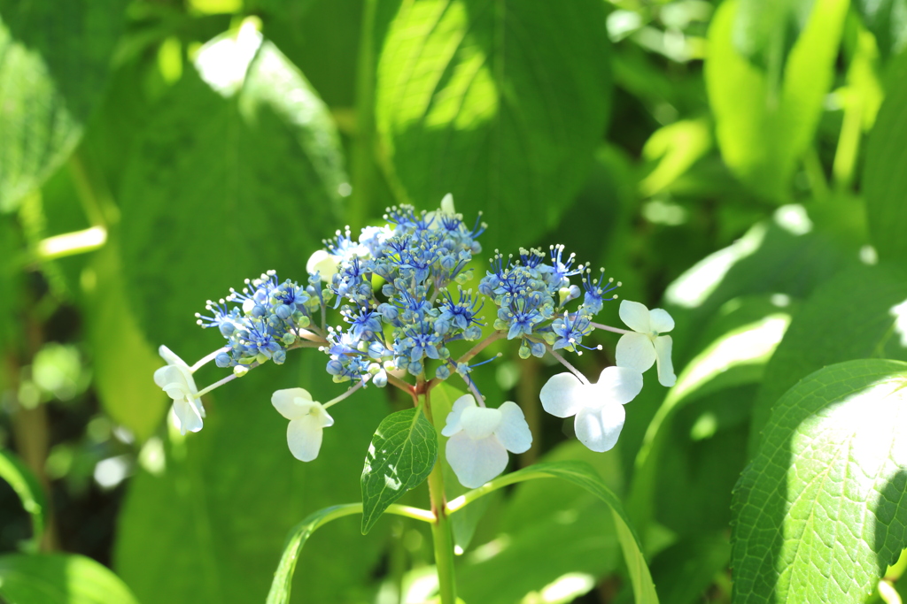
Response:
[[[604,10],[594,0],[399,3],[375,84],[399,196],[432,209],[453,193],[468,221],[484,212],[490,248],[556,224],[608,116]]]

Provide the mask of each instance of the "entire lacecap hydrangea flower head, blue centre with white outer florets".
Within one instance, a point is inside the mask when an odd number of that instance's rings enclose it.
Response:
[[[462,284],[472,278],[473,254],[481,252],[476,239],[485,225],[478,220],[465,225],[450,195],[434,212],[399,206],[389,208],[385,220],[385,226],[364,228],[357,240],[349,229],[337,231],[326,249],[309,259],[306,286],[279,282],[269,272],[247,280],[240,292],[230,290],[219,302],[208,302],[198,322],[217,328],[228,343],[195,365],[161,346],[168,364],[154,379],[173,398],[183,433],[201,429],[205,393],[268,360],[282,364],[289,350],[314,348],[327,354],[327,373],[334,381],[353,385],[324,404],[303,388],[274,393],[272,404],[289,419],[293,455],[302,461],[316,458],[323,429],[334,423],[327,408],[356,389],[390,384],[418,404],[419,396],[455,374],[471,394],[459,398],[446,417],[445,453],[460,482],[478,487],[502,473],[507,451],[522,453],[532,445],[520,407],[510,401],[486,407],[473,381],[473,368],[482,363],[470,362],[494,340],[517,340],[522,358],[551,354],[569,370],[541,388],[541,404],[557,417],[576,416],[577,436],[594,451],[607,451],[617,442],[623,405],[639,394],[643,371],[658,363],[660,383],[674,384],[671,339],[661,335],[673,328],[668,312],[623,301],[619,315],[632,331],[592,321],[604,302],[617,298],[612,292],[620,283],[606,280],[604,270],[593,275],[574,264],[572,254],[564,257],[562,245],[551,246],[547,254],[521,250],[518,258],[496,253],[478,292],[463,291]],[[580,284],[571,283],[571,277]],[[489,302],[497,308],[490,333],[478,314]],[[330,311],[339,312],[342,323],[328,324]],[[591,384],[559,351],[589,349],[583,339],[596,329],[623,336],[618,366],[605,369]],[[454,359],[448,347],[459,340],[475,344]],[[198,390],[192,373],[210,360],[233,372]]]

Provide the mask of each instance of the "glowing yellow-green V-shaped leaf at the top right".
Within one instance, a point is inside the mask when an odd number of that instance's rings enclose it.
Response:
[[[736,51],[740,1],[720,5],[712,19],[705,77],[718,147],[736,176],[765,197],[789,196],[797,162],[813,142],[834,81],[847,5],[847,0],[814,3],[776,83]]]

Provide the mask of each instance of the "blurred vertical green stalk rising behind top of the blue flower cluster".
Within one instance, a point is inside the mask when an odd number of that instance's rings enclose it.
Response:
[[[356,132],[352,149],[353,195],[346,218],[353,228],[365,225],[375,189],[375,10],[366,0],[356,66]]]

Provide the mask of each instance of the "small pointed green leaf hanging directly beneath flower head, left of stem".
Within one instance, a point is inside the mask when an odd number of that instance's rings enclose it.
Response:
[[[438,438],[422,407],[397,411],[381,420],[362,469],[362,534],[387,506],[432,473]]]

